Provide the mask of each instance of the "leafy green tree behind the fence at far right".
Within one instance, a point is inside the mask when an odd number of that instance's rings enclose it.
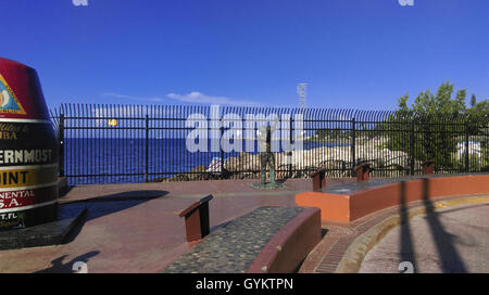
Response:
[[[454,156],[456,144],[467,131],[471,136],[481,132],[487,125],[489,104],[487,100],[477,102],[473,94],[467,107],[466,90],[456,91],[454,97],[453,92],[453,85],[447,81],[435,94],[422,91],[411,106],[409,94],[400,97],[398,110],[383,124],[389,133],[387,148],[406,152],[417,161],[435,159],[437,169],[461,168]],[[487,150],[487,142],[485,146]]]

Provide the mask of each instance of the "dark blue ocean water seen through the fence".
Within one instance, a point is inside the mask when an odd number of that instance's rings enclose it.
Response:
[[[303,142],[304,150],[338,145],[349,143]],[[256,141],[254,151],[252,154],[258,153]],[[238,155],[239,152],[191,153],[186,139],[68,138],[64,141],[64,175],[70,184],[145,182],[146,172],[150,180],[170,178],[201,165],[209,167],[222,156],[226,161]]]

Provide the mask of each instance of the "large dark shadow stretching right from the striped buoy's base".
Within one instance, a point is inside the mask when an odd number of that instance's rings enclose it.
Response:
[[[140,190],[64,203],[60,206],[60,217],[70,216],[73,211],[79,211],[83,208],[87,208],[87,213],[85,214],[84,219],[66,236],[63,243],[66,244],[73,242],[85,223],[90,220],[129,209],[148,201],[164,197],[167,194],[167,191]]]

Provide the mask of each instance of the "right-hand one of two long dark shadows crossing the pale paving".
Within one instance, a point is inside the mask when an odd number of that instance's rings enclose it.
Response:
[[[454,240],[456,236],[444,230],[435,206],[429,200],[429,178],[423,178],[423,203],[426,209],[426,220],[438,251],[443,272],[467,272],[462,257],[459,255]]]

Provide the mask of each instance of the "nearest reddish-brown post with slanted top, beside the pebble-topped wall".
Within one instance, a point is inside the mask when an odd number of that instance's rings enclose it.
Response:
[[[212,194],[202,197],[178,215],[185,217],[187,242],[201,240],[210,233],[209,201],[213,197]]]

